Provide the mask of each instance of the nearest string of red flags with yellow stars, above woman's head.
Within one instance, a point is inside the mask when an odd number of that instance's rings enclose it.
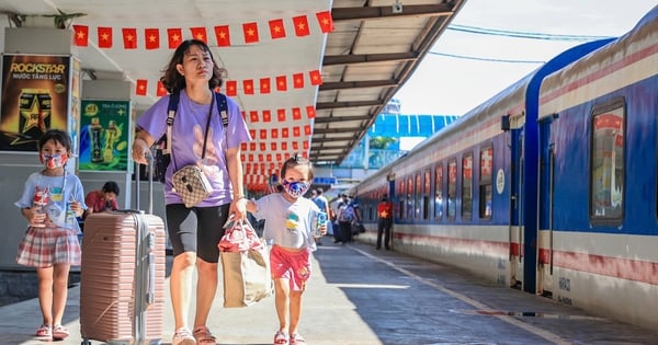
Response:
[[[330,33],[334,30],[333,19],[331,18],[330,11],[321,11],[315,13],[317,25],[322,34]],[[294,27],[296,37],[305,37],[310,35],[310,24],[308,15],[297,15],[290,19]],[[73,44],[79,47],[89,46],[89,25],[73,24],[75,38]],[[93,32],[93,28],[91,28]],[[98,26],[97,32],[97,45],[102,49],[110,49],[114,47],[114,27],[112,26]],[[124,49],[137,49],[140,47],[139,33],[136,27],[122,27],[121,37]],[[211,31],[215,36],[215,43],[218,47],[230,47],[234,45],[234,41],[238,37],[236,27],[231,25],[215,25]],[[285,31],[285,21],[283,19],[273,19],[268,21],[268,30],[263,32],[263,27],[259,26],[258,22],[247,22],[241,24],[242,43],[245,44],[257,44],[261,42],[261,37],[264,37],[269,32],[271,39],[281,39],[288,37]],[[144,36],[141,36],[145,49],[160,49],[161,45],[161,33],[158,27],[143,28]],[[183,28],[182,27],[169,27],[164,31],[167,35],[167,47],[169,49],[175,49],[183,42]],[[192,38],[200,39],[208,44],[208,30],[205,26],[190,27],[190,34]],[[241,43],[240,43],[241,44]]]

